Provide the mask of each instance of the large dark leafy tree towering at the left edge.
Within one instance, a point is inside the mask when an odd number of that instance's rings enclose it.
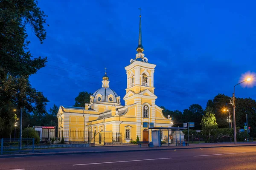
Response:
[[[48,102],[43,94],[32,88],[29,76],[45,66],[47,58],[33,57],[26,40],[27,26],[40,42],[46,38],[44,24],[47,17],[34,0],[0,1],[0,128],[9,133],[9,127],[15,122],[19,108],[27,113],[45,113]],[[17,116],[19,116],[17,114]],[[6,136],[6,134],[2,134]]]

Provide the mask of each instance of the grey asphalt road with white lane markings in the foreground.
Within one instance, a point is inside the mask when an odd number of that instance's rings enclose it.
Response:
[[[256,170],[256,146],[0,159],[1,170]]]

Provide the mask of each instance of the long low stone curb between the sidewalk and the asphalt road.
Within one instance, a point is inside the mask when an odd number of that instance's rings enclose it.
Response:
[[[185,147],[185,148],[159,148],[159,149],[143,149],[143,150],[109,150],[109,151],[85,151],[85,152],[67,152],[67,153],[31,153],[31,154],[16,154],[16,155],[6,155],[0,156],[3,158],[21,158],[21,157],[33,157],[33,156],[57,156],[57,155],[79,155],[87,153],[117,153],[117,152],[139,152],[139,151],[152,151],[152,150],[182,150],[182,149],[199,149],[199,148],[214,148],[214,147],[249,147],[256,146],[252,145],[236,145],[236,146],[208,146],[208,147]]]

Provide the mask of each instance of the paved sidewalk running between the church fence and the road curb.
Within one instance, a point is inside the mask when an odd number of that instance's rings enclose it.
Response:
[[[84,153],[111,153],[111,152],[129,152],[129,151],[148,151],[148,150],[174,150],[174,149],[193,149],[193,148],[210,148],[210,147],[239,147],[239,146],[256,146],[255,142],[238,142],[236,145],[228,143],[200,143],[189,144],[189,146],[162,146],[148,147],[142,145],[139,147],[135,144],[115,145],[115,146],[95,146],[95,147],[66,147],[51,149],[35,149],[34,153],[2,155],[0,158],[26,157],[26,156],[50,156],[50,155],[67,155],[67,154],[84,154]]]

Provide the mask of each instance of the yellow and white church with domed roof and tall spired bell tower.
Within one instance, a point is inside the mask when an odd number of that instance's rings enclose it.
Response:
[[[143,54],[141,36],[141,15],[139,26],[139,45],[135,59],[125,67],[127,74],[125,105],[121,105],[120,96],[110,88],[109,77],[105,73],[102,87],[90,96],[90,103],[84,108],[63,106],[58,110],[58,136],[65,140],[94,142],[99,144],[136,140],[150,141],[148,127],[172,127],[172,119],[163,116],[162,108],[155,104],[154,71],[156,65],[149,63]],[[65,133],[69,132],[69,133]],[[167,131],[162,131],[161,139],[166,139]]]

